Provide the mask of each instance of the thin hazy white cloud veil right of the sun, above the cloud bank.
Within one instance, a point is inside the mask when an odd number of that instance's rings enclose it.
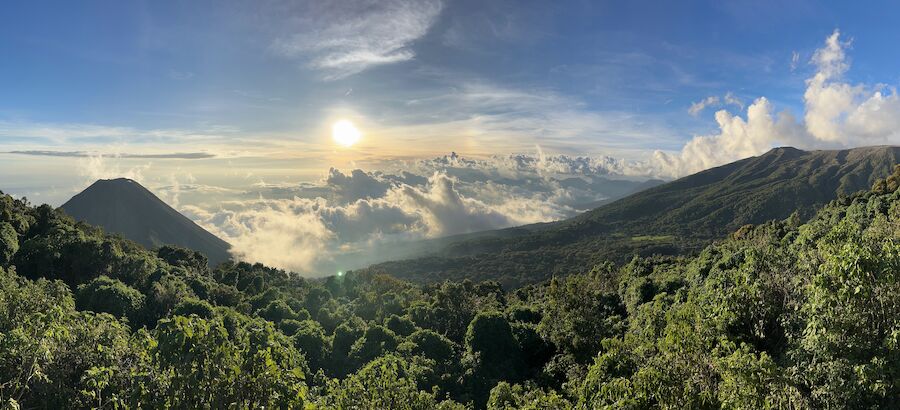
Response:
[[[521,152],[535,144],[555,152],[613,154],[677,144],[671,128],[651,115],[590,110],[553,90],[480,81],[451,82],[448,88],[409,100],[407,113],[398,114],[404,125],[390,131],[398,138],[434,141],[445,151],[463,147],[482,155]]]

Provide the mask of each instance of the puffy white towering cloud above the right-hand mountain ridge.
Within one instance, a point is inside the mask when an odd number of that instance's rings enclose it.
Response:
[[[816,71],[806,80],[802,121],[787,111],[775,113],[760,97],[747,107],[746,118],[716,112],[718,133],[695,136],[676,154],[654,153],[652,167],[659,175],[683,176],[778,145],[817,149],[900,143],[900,97],[881,84],[846,82],[849,46],[835,30],[813,53]]]

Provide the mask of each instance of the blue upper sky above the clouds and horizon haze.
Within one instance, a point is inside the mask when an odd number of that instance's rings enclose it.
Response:
[[[853,39],[852,78],[892,85],[900,72],[889,51],[900,40],[900,30],[891,28],[897,5],[890,2],[863,9],[803,1],[396,1],[397,9],[412,10],[408,20],[418,20],[401,23],[390,13],[367,15],[378,7],[364,2],[334,3],[6,4],[0,119],[180,130],[233,138],[240,146],[249,135],[315,141],[335,113],[379,129],[485,113],[540,114],[506,100],[461,112],[440,102],[411,103],[477,86],[484,93],[551,96],[554,104],[610,117],[608,126],[588,127],[565,143],[546,135],[550,149],[677,150],[715,128],[709,113],[685,114],[710,95],[732,92],[744,103],[766,96],[802,113],[803,80],[812,70],[807,62],[836,28]],[[362,29],[332,34],[351,43],[359,41],[355,35],[399,38],[374,39],[350,52],[377,53],[381,43],[396,41],[394,53],[402,55],[387,56],[392,62],[384,64],[322,67],[317,58],[346,50],[279,49],[327,40],[328,29],[353,24]],[[317,30],[323,37],[310,34]],[[794,53],[799,60],[792,63]],[[648,127],[652,138],[620,141]],[[41,142],[3,138],[4,145]],[[122,133],[66,145],[171,142],[157,138]],[[479,144],[473,153],[515,145]]]

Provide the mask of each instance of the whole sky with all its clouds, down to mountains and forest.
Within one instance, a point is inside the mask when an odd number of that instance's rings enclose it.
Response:
[[[565,218],[609,196],[605,179],[673,179],[780,145],[900,143],[898,12],[10,2],[0,190],[60,205],[130,177],[242,257],[315,271],[373,242]],[[339,121],[358,142],[336,143]],[[275,227],[287,256],[266,252]]]

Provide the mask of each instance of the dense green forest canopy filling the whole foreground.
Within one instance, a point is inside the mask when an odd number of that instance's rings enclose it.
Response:
[[[878,408],[900,397],[900,167],[808,223],[514,291],[210,271],[0,198],[5,406]]]

